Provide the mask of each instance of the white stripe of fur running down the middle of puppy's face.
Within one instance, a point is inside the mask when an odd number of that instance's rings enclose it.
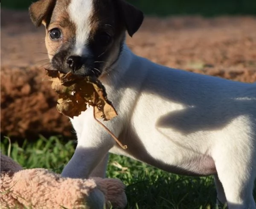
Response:
[[[90,16],[93,14],[93,0],[71,0],[68,13],[71,21],[76,25],[74,54],[87,55],[89,52],[86,43],[91,31]]]

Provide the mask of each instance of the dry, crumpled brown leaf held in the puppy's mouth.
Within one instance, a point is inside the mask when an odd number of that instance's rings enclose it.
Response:
[[[87,105],[91,105],[96,118],[110,120],[117,116],[104,86],[95,77],[82,77],[71,72],[62,74],[48,69],[46,71],[52,81],[52,89],[58,93],[57,110],[60,113],[73,118],[85,111]]]

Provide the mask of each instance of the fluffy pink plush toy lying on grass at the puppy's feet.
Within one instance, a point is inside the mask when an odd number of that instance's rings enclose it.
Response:
[[[127,200],[121,181],[110,178],[63,178],[47,169],[22,169],[0,155],[1,208],[104,209],[124,208]]]

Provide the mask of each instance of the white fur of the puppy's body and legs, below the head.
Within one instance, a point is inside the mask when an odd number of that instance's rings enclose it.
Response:
[[[218,198],[227,198],[230,209],[256,208],[255,84],[167,68],[128,48],[113,68],[100,79],[118,116],[104,124],[128,147],[140,141],[137,153],[116,145],[90,108],[71,120],[78,144],[63,176],[104,173],[109,150],[170,169],[193,169],[189,160],[211,156]],[[103,167],[97,167],[100,163]]]

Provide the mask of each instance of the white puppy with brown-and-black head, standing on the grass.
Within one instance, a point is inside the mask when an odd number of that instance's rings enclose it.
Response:
[[[104,177],[108,152],[182,175],[214,175],[218,200],[256,209],[256,85],[167,68],[125,45],[143,13],[124,0],[39,0],[29,8],[46,27],[52,67],[96,76],[118,116],[103,121],[89,108],[71,119],[78,142],[62,176]]]

